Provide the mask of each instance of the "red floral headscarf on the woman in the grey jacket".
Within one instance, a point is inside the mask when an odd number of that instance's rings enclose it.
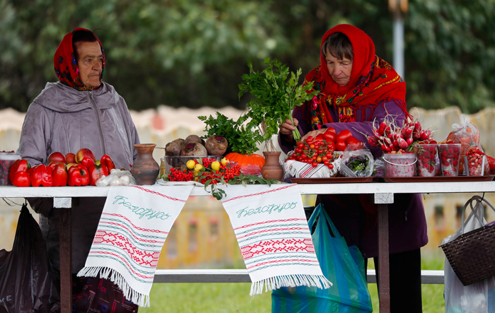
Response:
[[[93,88],[86,87],[83,84],[83,81],[81,81],[81,76],[79,76],[79,68],[77,66],[77,60],[74,56],[74,49],[72,49],[72,36],[74,35],[74,32],[78,30],[84,30],[86,32],[92,33],[91,30],[87,30],[86,28],[76,28],[72,30],[71,33],[68,33],[64,36],[64,39],[62,39],[62,42],[60,42],[60,45],[57,48],[57,51],[55,52],[55,56],[53,58],[55,73],[57,73],[57,77],[59,78],[59,80],[69,87],[80,91],[92,90]],[[103,79],[103,73],[105,72],[105,52],[103,51],[103,46],[101,45],[98,37],[96,37],[96,40],[98,40],[98,44],[100,44],[101,47],[101,53],[103,54],[103,64],[100,76],[101,83],[101,80]]]

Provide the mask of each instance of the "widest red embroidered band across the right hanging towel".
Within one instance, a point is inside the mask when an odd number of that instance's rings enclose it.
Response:
[[[253,256],[280,252],[315,252],[313,241],[310,239],[281,239],[267,240],[240,248],[245,260]]]

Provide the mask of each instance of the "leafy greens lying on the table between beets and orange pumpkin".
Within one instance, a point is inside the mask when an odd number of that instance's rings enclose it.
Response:
[[[205,136],[208,138],[211,135],[223,136],[228,141],[228,148],[225,154],[235,152],[240,154],[255,153],[258,150],[256,143],[263,142],[263,136],[260,131],[252,131],[249,127],[243,126],[244,119],[239,119],[235,122],[233,119],[228,119],[225,115],[216,112],[216,117],[201,116],[198,117],[205,124]]]

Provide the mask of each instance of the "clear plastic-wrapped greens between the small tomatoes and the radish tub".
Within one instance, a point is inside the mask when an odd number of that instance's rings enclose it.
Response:
[[[345,150],[339,173],[344,177],[370,177],[373,175],[375,160],[370,150]]]

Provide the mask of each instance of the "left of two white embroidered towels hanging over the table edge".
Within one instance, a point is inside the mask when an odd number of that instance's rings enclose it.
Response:
[[[78,276],[112,280],[127,300],[149,307],[158,258],[194,185],[110,187]]]

